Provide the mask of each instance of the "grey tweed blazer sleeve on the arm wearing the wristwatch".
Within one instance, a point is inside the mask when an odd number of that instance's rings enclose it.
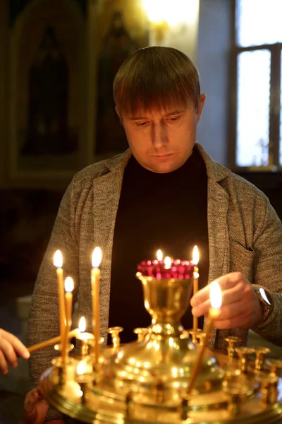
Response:
[[[282,346],[282,224],[267,199],[265,218],[255,239],[255,284],[271,295],[274,309],[266,322],[252,330]]]

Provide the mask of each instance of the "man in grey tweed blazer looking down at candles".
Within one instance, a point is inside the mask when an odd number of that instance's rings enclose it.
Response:
[[[126,342],[136,326],[150,323],[137,264],[154,259],[159,248],[190,259],[193,245],[201,254],[201,290],[191,300],[192,314],[207,314],[208,282],[217,279],[223,295],[220,331],[210,346],[225,348],[228,334],[245,344],[250,328],[281,343],[281,222],[262,192],[195,145],[205,102],[195,66],[176,49],[139,49],[116,75],[114,100],[130,150],[78,172],[68,187],[35,285],[30,343],[59,334],[56,249],[90,326],[91,254],[101,247],[101,333],[123,326]],[[185,328],[192,327],[192,314],[188,308]],[[53,357],[51,348],[32,355],[35,385]],[[52,410],[48,418],[59,415]]]

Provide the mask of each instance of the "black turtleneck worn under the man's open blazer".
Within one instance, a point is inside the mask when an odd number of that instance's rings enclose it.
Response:
[[[111,264],[109,326],[123,326],[122,343],[135,340],[135,327],[151,322],[135,277],[137,264],[156,259],[157,249],[173,259],[192,259],[194,245],[200,251],[202,288],[209,272],[207,171],[197,148],[184,165],[166,174],[146,170],[132,156],[123,177]],[[192,328],[190,307],[182,323]]]

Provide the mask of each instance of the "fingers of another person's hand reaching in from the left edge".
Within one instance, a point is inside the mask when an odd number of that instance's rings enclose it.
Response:
[[[12,367],[18,365],[17,356],[28,359],[30,353],[16,336],[0,329],[0,372],[2,374],[8,374],[8,364]]]

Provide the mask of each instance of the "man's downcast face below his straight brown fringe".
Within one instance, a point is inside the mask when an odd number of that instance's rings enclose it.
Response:
[[[147,170],[159,173],[172,172],[183,165],[196,141],[204,100],[202,94],[198,110],[190,102],[184,108],[175,106],[155,112],[140,110],[135,116],[123,115],[121,122],[137,162]]]

